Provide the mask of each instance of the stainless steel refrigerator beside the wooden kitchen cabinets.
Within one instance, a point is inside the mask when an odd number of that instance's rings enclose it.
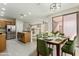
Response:
[[[6,34],[7,34],[7,39],[15,39],[16,38],[15,25],[7,25]]]

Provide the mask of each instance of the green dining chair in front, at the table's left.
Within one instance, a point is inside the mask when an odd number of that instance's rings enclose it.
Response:
[[[45,40],[37,39],[37,52],[38,55],[48,56],[52,53],[53,49],[47,46],[47,42]]]

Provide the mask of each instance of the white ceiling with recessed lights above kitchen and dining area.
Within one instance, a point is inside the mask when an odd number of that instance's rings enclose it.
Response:
[[[62,3],[59,10],[50,11],[50,3],[7,3],[6,5],[0,3],[0,8],[6,8],[4,16],[0,17],[17,18],[31,22],[36,19],[44,18],[51,13],[54,14],[78,5],[77,3]],[[25,14],[25,17],[20,17],[22,14]]]

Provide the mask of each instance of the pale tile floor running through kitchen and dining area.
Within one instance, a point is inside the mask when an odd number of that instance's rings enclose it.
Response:
[[[22,43],[16,39],[7,40],[7,49],[0,56],[36,56],[36,41]],[[56,56],[56,47],[54,46],[53,55]],[[67,56],[71,56],[66,54]],[[76,56],[79,56],[79,48],[76,47]]]

